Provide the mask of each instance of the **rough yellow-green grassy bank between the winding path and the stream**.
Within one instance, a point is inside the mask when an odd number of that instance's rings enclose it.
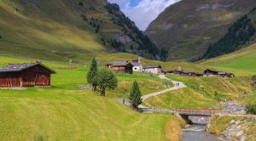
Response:
[[[252,87],[242,78],[224,79],[219,77],[169,76],[184,82],[188,87],[165,93],[145,101],[148,106],[166,109],[176,108],[219,108],[218,100],[241,100],[243,94],[252,93]],[[218,97],[215,93],[218,92]],[[248,103],[246,99],[242,99]]]

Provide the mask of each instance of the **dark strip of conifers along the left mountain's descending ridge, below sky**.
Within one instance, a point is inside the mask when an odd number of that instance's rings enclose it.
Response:
[[[117,17],[116,19],[113,18],[113,23],[122,27],[122,31],[131,37],[133,42],[137,42],[141,48],[148,50],[148,53],[153,54],[154,56],[160,54],[160,50],[156,47],[154,42],[152,42],[148,36],[144,35],[143,31],[140,31],[135,23],[120,11],[118,4],[107,3],[105,8],[108,9],[109,14],[113,14]]]

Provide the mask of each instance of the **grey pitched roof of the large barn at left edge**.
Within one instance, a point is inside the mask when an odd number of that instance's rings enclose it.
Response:
[[[41,63],[24,63],[24,64],[9,64],[4,66],[3,68],[0,68],[0,73],[1,72],[18,72],[18,71],[24,71],[32,66],[35,65],[41,65],[44,68],[48,69],[49,71],[51,71],[52,73],[55,73],[55,71],[49,69],[47,66],[42,65]]]

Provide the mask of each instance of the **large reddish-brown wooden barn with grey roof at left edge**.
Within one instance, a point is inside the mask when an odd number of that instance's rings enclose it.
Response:
[[[0,87],[50,86],[55,71],[41,63],[10,64],[0,68]]]

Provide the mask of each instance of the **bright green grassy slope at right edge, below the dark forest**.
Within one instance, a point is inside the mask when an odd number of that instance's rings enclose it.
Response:
[[[230,71],[238,76],[256,74],[256,44],[243,48],[232,54],[201,62],[205,67],[212,67],[222,71]]]

